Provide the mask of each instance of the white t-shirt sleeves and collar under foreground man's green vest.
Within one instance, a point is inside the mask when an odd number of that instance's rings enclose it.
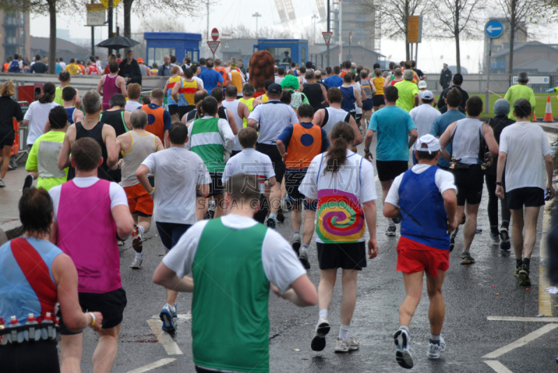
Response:
[[[257,224],[253,219],[234,214],[225,215],[220,219],[225,227],[231,229],[246,229]],[[174,271],[178,277],[184,277],[192,272],[197,245],[208,221],[202,220],[190,227],[163,258],[165,266]],[[267,279],[275,284],[281,293],[285,293],[297,278],[306,274],[291,244],[273,229],[267,229],[262,244],[262,264]]]

